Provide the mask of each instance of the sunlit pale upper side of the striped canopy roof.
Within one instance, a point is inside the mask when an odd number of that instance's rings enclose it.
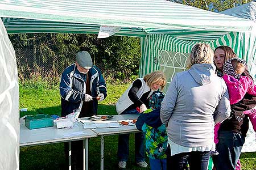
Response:
[[[194,31],[250,31],[252,24],[246,19],[164,0],[0,1],[0,16],[32,19],[32,25],[34,20],[44,20],[49,23]]]

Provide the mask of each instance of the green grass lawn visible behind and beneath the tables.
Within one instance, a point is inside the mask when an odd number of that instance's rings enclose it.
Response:
[[[128,86],[129,84],[108,85],[108,97],[100,103],[98,114],[117,114],[115,113],[114,104]],[[59,87],[48,88],[40,83],[20,85],[20,108],[28,108],[27,112],[20,112],[20,117],[26,114],[35,115],[40,113],[60,115]],[[118,169],[117,143],[117,135],[105,137],[104,169],[106,170]],[[126,169],[150,169],[149,167],[137,167],[134,160],[134,134],[131,134],[130,157]],[[148,160],[146,161],[148,163]],[[243,170],[255,170],[256,153],[242,154],[241,163]],[[20,170],[56,170],[64,169],[64,167],[63,143],[20,148]],[[89,140],[89,169],[100,169],[100,137],[90,138]]]

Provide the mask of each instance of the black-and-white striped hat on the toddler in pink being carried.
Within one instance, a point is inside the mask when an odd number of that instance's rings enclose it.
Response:
[[[241,59],[241,58],[229,58],[223,65],[223,72],[225,74],[228,74],[228,75],[232,75],[234,78],[236,79],[240,79],[241,75],[240,74],[237,74],[236,71],[234,70],[234,67],[232,65],[232,61],[233,60],[236,60],[240,63],[242,63],[243,65],[246,64],[245,60],[244,59]]]

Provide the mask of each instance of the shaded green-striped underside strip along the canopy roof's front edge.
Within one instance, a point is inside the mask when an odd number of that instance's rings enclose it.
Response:
[[[8,33],[39,33],[39,32],[51,32],[51,33],[98,33],[100,25],[93,24],[76,24],[76,23],[61,23],[61,22],[46,22],[43,20],[34,20],[34,24],[31,25],[29,19],[18,18],[2,18],[3,23]],[[16,27],[19,25],[19,27]],[[146,32],[145,32],[146,31]],[[134,36],[144,37],[147,34],[159,34],[175,36],[177,39],[182,40],[195,40],[195,41],[210,41],[216,40],[223,36],[226,32],[213,32],[213,31],[188,31],[188,30],[155,30],[150,31],[142,28],[127,28],[122,27],[118,33],[118,36]]]

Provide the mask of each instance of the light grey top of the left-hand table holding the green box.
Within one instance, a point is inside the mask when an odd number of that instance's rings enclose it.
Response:
[[[90,129],[84,129],[79,122],[70,129],[57,129],[56,125],[49,128],[28,129],[24,122],[20,123],[20,146],[77,141],[92,137],[97,137],[97,134]]]

